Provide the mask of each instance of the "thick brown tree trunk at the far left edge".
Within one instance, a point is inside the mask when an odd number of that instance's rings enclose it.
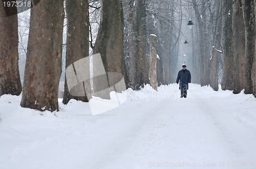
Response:
[[[10,8],[17,13],[16,7]],[[0,3],[0,37],[0,96],[19,95],[22,92],[22,84],[18,71],[18,18],[17,15],[7,17],[2,2]]]

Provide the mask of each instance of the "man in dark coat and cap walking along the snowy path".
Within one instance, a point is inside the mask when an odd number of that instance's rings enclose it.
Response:
[[[187,97],[188,83],[191,83],[191,74],[190,71],[187,70],[186,65],[182,65],[182,69],[179,71],[176,83],[178,84],[180,81],[180,97]]]

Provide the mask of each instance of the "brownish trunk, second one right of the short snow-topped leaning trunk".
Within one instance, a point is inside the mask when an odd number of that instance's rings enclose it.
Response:
[[[238,24],[239,23],[239,24]],[[234,94],[245,88],[245,30],[242,0],[233,3]]]

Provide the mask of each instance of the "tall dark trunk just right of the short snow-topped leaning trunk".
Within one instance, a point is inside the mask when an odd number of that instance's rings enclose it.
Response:
[[[232,30],[232,0],[224,1],[224,27],[223,27],[223,77],[222,90],[234,89],[234,55]]]

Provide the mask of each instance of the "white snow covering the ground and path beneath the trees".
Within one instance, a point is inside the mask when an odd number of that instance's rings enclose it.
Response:
[[[81,101],[52,113],[1,96],[0,168],[256,168],[254,96],[196,84],[188,98],[177,84],[126,94],[96,116]]]

